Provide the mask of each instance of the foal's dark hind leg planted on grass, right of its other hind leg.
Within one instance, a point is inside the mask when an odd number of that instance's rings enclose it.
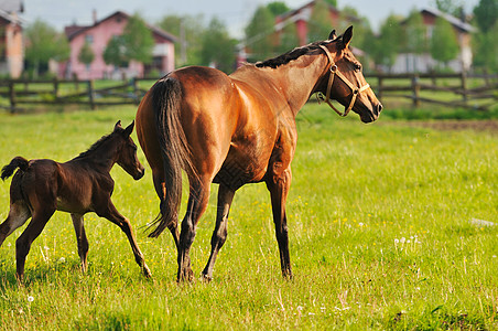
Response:
[[[30,224],[15,242],[17,277],[19,280],[24,277],[24,264],[28,253],[30,253],[31,244],[42,233],[54,213],[55,209],[35,210]]]

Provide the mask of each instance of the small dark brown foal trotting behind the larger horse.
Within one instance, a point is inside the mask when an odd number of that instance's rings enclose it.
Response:
[[[95,142],[86,152],[65,163],[41,159],[28,161],[17,157],[3,167],[1,179],[6,180],[15,169],[18,172],[10,186],[10,211],[0,225],[0,246],[18,227],[32,217],[30,224],[15,242],[17,277],[22,280],[24,263],[31,244],[55,213],[71,213],[76,231],[82,270],[87,269],[88,239],[83,215],[95,212],[118,225],[128,237],[134,259],[147,277],[151,273],[137,245],[130,221],[112,204],[110,196],[115,181],[109,171],[115,163],[121,166],[134,180],[144,174],[144,168],[137,158],[137,146],[130,138],[134,122],[126,129],[118,121],[113,131]]]

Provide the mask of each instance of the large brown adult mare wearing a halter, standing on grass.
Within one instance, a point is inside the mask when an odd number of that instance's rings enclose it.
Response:
[[[177,280],[193,278],[190,248],[206,210],[210,183],[218,183],[212,253],[203,270],[212,279],[216,256],[227,237],[234,194],[246,183],[264,182],[270,191],[280,263],[292,277],[285,201],[297,132],[295,116],[314,93],[336,99],[364,122],[382,108],[361,74],[344,35],[315,42],[264,62],[246,64],[231,75],[208,67],[185,67],[158,81],[137,113],[137,135],[152,168],[161,199],[156,228],[173,234],[178,256]],[[190,199],[178,235],[182,169],[190,181]]]

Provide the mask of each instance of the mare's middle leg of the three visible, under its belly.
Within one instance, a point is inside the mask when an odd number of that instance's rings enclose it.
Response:
[[[203,277],[205,280],[212,280],[213,268],[215,267],[216,256],[219,249],[227,239],[227,223],[228,213],[230,212],[231,201],[234,200],[235,191],[227,186],[219,184],[218,189],[218,210],[216,214],[216,226],[210,238],[210,256],[206,267],[203,270]]]

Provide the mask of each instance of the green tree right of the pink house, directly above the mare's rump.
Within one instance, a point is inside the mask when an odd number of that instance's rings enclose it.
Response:
[[[226,26],[217,18],[213,18],[203,33],[202,64],[231,73],[236,65],[236,42],[228,35]]]

